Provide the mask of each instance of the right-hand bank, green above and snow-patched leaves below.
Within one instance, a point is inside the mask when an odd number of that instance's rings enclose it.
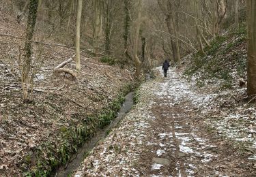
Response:
[[[246,95],[246,29],[229,30],[216,37],[205,54],[190,54],[183,77],[208,95],[209,108],[200,118],[209,133],[228,140],[255,159],[255,97]],[[204,107],[204,106],[203,106]]]

